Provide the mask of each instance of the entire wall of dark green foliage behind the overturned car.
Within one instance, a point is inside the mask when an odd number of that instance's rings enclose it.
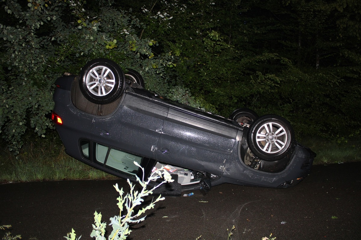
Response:
[[[146,87],[223,116],[248,107],[298,135],[358,133],[357,0],[1,0],[0,134],[53,128],[55,78],[106,57]]]

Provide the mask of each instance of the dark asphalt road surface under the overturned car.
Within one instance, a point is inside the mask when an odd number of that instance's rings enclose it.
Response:
[[[0,225],[12,225],[12,235],[25,240],[64,239],[71,228],[91,239],[95,211],[107,223],[119,214],[115,183],[128,189],[125,180],[2,184]],[[277,240],[360,239],[360,199],[361,163],[314,166],[288,189],[223,184],[206,195],[166,197],[128,239],[226,240],[233,225],[234,240],[271,233]]]

